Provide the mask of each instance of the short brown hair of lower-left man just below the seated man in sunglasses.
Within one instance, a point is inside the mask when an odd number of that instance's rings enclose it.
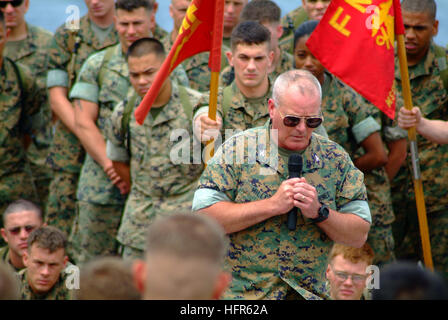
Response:
[[[64,249],[65,251],[67,237],[61,230],[55,227],[43,226],[30,233],[28,237],[28,251],[31,250],[33,244],[41,249],[48,249],[50,253],[59,249]]]

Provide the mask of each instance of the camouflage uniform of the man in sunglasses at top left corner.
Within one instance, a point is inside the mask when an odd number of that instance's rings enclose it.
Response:
[[[14,62],[26,65],[33,73],[33,79],[36,80],[40,95],[46,97],[48,49],[53,35],[47,30],[30,24],[27,24],[26,28],[26,38],[20,41],[8,41],[3,54]],[[31,144],[27,149],[31,174],[42,208],[45,208],[46,205],[52,173],[45,165],[52,139],[51,119],[51,109],[48,100],[45,99],[39,113],[32,118],[33,134]]]

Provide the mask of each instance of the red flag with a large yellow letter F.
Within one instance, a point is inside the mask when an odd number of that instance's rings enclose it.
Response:
[[[394,43],[399,0],[332,0],[307,46],[332,74],[395,116]]]

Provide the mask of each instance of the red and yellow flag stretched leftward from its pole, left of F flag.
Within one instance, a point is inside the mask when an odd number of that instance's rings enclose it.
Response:
[[[192,0],[179,35],[160,67],[151,88],[135,110],[135,118],[142,124],[159,94],[160,87],[171,71],[185,59],[200,52],[210,51],[212,72],[221,69],[224,0]]]

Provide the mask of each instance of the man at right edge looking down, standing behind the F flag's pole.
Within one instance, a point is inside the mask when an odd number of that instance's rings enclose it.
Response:
[[[446,120],[448,60],[444,48],[432,41],[438,32],[435,1],[404,0],[402,10],[413,103],[420,108],[425,118]],[[401,94],[398,70],[395,78],[398,93]],[[405,137],[406,134],[401,136]],[[419,136],[417,147],[434,268],[448,279],[448,145]],[[397,217],[393,228],[397,258],[417,261],[422,259],[422,249],[410,160],[400,168],[392,181],[393,205]]]

